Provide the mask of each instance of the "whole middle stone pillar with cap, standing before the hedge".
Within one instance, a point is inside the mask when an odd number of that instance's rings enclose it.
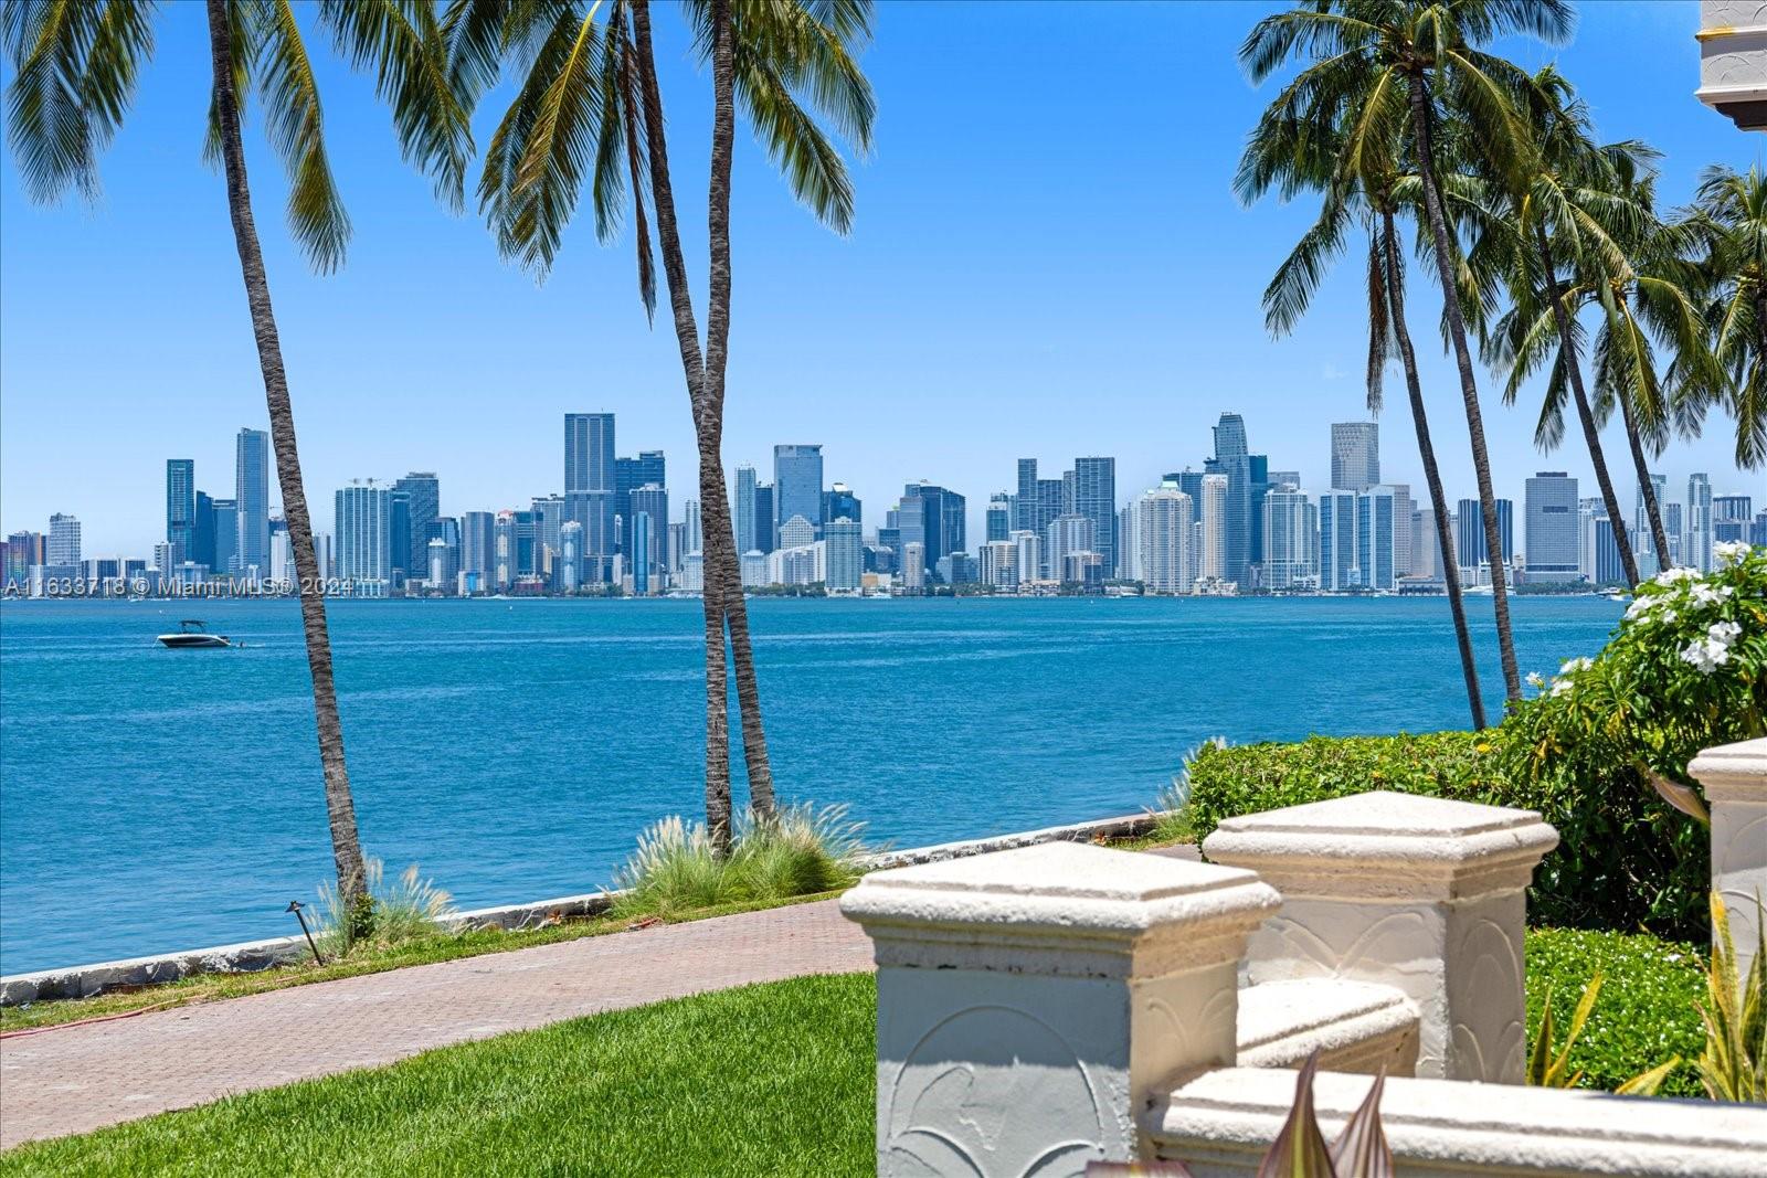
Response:
[[[1251,984],[1391,985],[1417,1003],[1417,1076],[1520,1084],[1525,890],[1557,844],[1532,811],[1375,791],[1230,818],[1203,855],[1283,894]]]

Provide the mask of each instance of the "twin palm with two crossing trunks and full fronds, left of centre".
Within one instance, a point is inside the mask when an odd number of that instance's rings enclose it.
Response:
[[[597,28],[603,7],[606,19]],[[558,0],[553,5],[452,0],[444,18],[451,72],[472,108],[507,62],[518,92],[486,147],[479,201],[498,247],[546,276],[585,173],[601,237],[618,233],[631,201],[638,290],[656,304],[645,203],[680,348],[700,457],[705,551],[705,809],[717,846],[730,839],[728,671],[742,719],[749,804],[774,811],[747,608],[723,470],[724,373],[730,357],[730,168],[737,104],[755,124],[792,191],[838,233],[852,226],[846,166],[820,113],[859,150],[871,143],[875,101],[855,64],[869,39],[869,0],[742,4],[689,0],[682,12],[712,72],[709,297],[705,336],[693,307],[668,166],[663,95],[647,0]],[[629,185],[629,189],[627,189]],[[726,666],[724,641],[730,641]]]

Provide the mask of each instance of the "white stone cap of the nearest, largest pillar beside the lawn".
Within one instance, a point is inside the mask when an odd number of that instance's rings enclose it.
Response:
[[[1131,952],[1159,933],[1212,952],[1279,906],[1276,890],[1249,871],[1078,842],[875,871],[841,897],[841,913],[880,941],[1064,943],[1088,952]]]

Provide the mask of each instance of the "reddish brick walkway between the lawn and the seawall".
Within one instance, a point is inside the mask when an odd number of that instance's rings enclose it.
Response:
[[[0,1148],[597,1010],[871,968],[834,901],[316,982],[0,1040]]]

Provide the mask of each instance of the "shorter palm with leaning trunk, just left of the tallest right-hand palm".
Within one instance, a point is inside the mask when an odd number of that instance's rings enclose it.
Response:
[[[1276,277],[1263,291],[1265,323],[1274,336],[1293,330],[1295,321],[1311,306],[1325,267],[1343,253],[1348,223],[1352,219],[1362,221],[1368,230],[1368,408],[1380,412],[1387,360],[1396,351],[1405,367],[1405,390],[1417,431],[1417,452],[1424,466],[1424,482],[1430,487],[1442,583],[1447,590],[1449,613],[1454,618],[1454,641],[1460,648],[1461,676],[1467,680],[1467,703],[1472,710],[1474,729],[1483,729],[1484,698],[1479,694],[1479,666],[1474,659],[1467,608],[1461,599],[1460,562],[1454,556],[1447,493],[1442,487],[1435,443],[1430,438],[1430,419],[1417,378],[1417,355],[1405,323],[1405,265],[1399,258],[1396,228],[1398,189],[1403,178],[1396,175],[1396,150],[1392,154],[1368,150],[1361,157],[1359,175],[1343,175],[1339,171],[1343,138],[1343,129],[1334,125],[1329,117],[1297,111],[1278,99],[1258,120],[1258,127],[1251,132],[1240,157],[1233,187],[1244,203],[1255,201],[1272,187],[1278,187],[1283,198],[1301,189],[1323,193],[1318,219],[1283,260]]]

